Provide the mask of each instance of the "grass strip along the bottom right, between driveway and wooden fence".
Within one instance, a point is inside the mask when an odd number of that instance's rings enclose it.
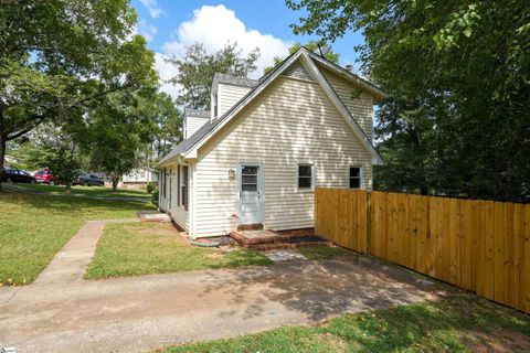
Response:
[[[159,352],[528,352],[530,320],[471,295]]]

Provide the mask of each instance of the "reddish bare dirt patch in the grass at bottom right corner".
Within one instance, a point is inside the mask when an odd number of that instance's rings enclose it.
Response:
[[[492,332],[470,331],[464,333],[462,340],[471,352],[530,352],[530,338],[515,331],[501,329],[495,330]]]

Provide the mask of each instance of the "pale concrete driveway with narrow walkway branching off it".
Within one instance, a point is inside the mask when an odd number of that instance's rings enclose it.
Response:
[[[141,352],[315,323],[437,295],[434,285],[401,269],[348,260],[84,281],[102,226],[87,223],[33,285],[0,288],[0,346],[18,352]]]

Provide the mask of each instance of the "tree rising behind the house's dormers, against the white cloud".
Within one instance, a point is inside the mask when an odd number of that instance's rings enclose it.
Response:
[[[177,104],[193,109],[209,109],[212,79],[215,73],[246,77],[256,69],[259,50],[256,47],[246,57],[237,43],[227,43],[222,50],[206,54],[203,44],[189,45],[183,60],[168,60],[178,71],[169,82],[181,87]]]

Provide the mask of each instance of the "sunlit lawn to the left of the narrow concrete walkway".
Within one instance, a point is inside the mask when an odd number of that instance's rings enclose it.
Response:
[[[0,285],[32,282],[89,220],[135,217],[145,203],[0,193]]]

